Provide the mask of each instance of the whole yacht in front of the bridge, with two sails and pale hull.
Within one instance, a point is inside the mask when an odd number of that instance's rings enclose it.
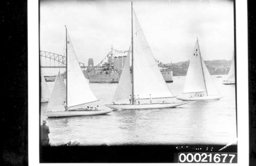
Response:
[[[99,115],[111,112],[111,110],[91,110],[90,108],[74,108],[87,103],[98,101],[94,96],[86,78],[84,78],[79,66],[71,39],[66,27],[66,85],[60,72],[54,82],[48,109],[45,115],[48,117]],[[65,102],[65,103],[64,103]],[[67,107],[68,109],[66,109]]]

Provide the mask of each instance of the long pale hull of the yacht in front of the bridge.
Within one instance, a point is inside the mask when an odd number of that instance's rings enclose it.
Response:
[[[65,116],[86,116],[86,115],[103,115],[112,112],[112,110],[90,110],[90,111],[47,111],[47,117],[65,117]]]

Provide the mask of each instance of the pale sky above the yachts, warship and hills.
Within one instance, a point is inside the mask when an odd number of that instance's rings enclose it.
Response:
[[[204,60],[230,60],[234,50],[233,1],[133,1],[156,59],[187,61],[198,37]],[[63,55],[65,25],[80,62],[100,62],[111,48],[129,50],[131,1],[41,1],[40,50]]]

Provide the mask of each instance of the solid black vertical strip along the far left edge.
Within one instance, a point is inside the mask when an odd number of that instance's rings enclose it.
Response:
[[[0,165],[28,165],[27,13],[26,0],[3,2]]]

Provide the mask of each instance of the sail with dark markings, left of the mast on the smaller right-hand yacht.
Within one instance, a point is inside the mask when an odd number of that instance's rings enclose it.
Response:
[[[201,54],[199,51],[198,40],[196,42],[193,54],[189,58],[186,81],[183,93],[205,92],[205,82],[202,70]]]

